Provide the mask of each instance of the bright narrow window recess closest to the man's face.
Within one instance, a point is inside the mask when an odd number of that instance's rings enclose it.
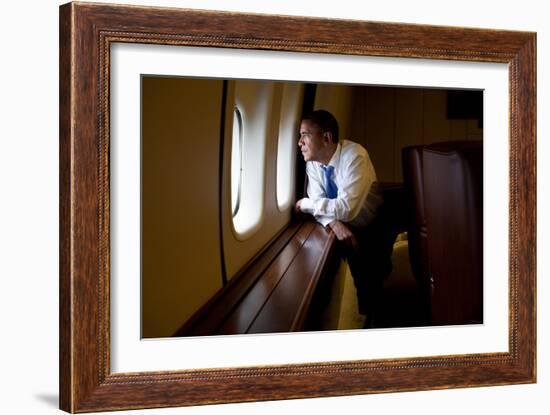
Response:
[[[303,86],[300,84],[286,84],[283,89],[277,145],[277,206],[280,211],[288,209],[294,194],[294,161],[300,128],[302,90]]]

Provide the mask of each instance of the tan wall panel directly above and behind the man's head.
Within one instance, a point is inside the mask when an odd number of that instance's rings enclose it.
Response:
[[[319,84],[315,90],[315,110],[327,110],[338,120],[339,136],[351,139],[350,121],[353,105],[353,86]]]

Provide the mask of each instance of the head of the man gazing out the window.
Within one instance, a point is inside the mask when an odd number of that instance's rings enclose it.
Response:
[[[338,122],[325,110],[317,110],[302,119],[298,146],[305,161],[328,164],[338,144]]]

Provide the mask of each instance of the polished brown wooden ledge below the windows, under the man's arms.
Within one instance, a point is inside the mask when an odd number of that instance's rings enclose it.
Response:
[[[335,240],[311,220],[291,223],[175,336],[307,330],[321,282],[338,261]]]

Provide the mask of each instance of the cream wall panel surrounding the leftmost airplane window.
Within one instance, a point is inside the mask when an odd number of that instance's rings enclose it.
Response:
[[[228,82],[227,105],[225,115],[225,140],[224,140],[224,174],[222,190],[222,223],[223,223],[223,245],[225,256],[225,267],[228,279],[250,261],[290,220],[291,210],[294,201],[287,209],[279,211],[277,206],[277,145],[278,130],[281,111],[281,100],[285,83],[273,83],[266,81],[237,80]],[[247,126],[247,117],[243,114],[243,131],[249,134],[245,142],[249,140],[266,140],[264,154],[253,154],[251,156],[260,158],[264,163],[264,189],[263,212],[261,222],[257,229],[244,238],[236,234],[232,225],[231,215],[231,136],[233,130],[233,108],[235,103],[246,103],[248,108],[244,112],[253,111],[253,108],[262,100],[269,100],[270,110],[256,112],[254,122],[265,126],[266,136],[250,135]],[[300,100],[303,99],[303,92]],[[298,132],[296,131],[296,137]],[[296,139],[297,140],[297,139]],[[244,155],[243,155],[244,157]],[[261,170],[261,169],[260,169]],[[254,171],[252,174],[261,175],[261,171]],[[250,172],[248,172],[250,174]]]

